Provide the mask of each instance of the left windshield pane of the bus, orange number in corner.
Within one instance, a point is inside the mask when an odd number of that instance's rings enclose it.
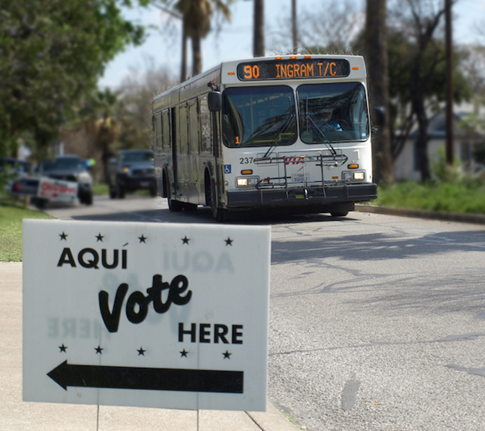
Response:
[[[291,145],[297,140],[294,91],[286,85],[228,88],[222,99],[228,147]]]

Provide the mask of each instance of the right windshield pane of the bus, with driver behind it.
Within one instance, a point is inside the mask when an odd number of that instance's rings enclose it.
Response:
[[[369,137],[365,89],[360,82],[305,84],[297,88],[304,143],[360,141]]]

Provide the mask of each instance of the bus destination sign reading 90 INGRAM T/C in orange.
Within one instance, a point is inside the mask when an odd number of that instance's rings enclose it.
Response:
[[[265,60],[238,64],[238,78],[243,81],[294,78],[341,78],[349,76],[345,59]]]

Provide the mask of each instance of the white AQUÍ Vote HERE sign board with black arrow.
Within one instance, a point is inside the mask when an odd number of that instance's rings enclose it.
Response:
[[[23,399],[264,411],[270,227],[24,220]]]

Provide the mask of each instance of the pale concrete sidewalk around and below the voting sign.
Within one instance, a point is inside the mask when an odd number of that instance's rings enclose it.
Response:
[[[166,410],[22,401],[22,264],[0,263],[0,430],[295,431],[267,412]]]

